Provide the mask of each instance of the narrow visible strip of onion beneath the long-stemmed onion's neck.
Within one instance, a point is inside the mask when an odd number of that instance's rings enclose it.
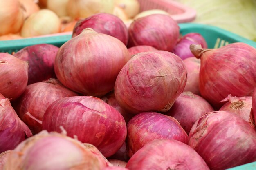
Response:
[[[186,58],[184,64],[188,72],[188,79],[184,91],[191,91],[196,95],[200,95],[199,91],[199,71],[200,71],[200,59],[196,57]]]

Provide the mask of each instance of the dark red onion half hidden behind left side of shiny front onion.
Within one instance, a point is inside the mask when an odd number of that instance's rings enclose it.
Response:
[[[36,134],[42,130],[46,108],[57,99],[70,96],[78,94],[65,88],[57,79],[49,79],[28,85],[13,107],[31,132]]]

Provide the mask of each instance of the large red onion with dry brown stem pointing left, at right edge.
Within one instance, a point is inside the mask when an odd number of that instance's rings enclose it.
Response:
[[[237,42],[219,49],[202,49],[191,45],[195,57],[200,58],[199,89],[202,97],[216,107],[227,95],[252,96],[256,86],[256,49]]]

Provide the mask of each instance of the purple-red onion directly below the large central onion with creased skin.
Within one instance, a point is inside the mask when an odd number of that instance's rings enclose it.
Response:
[[[126,148],[130,157],[156,139],[175,139],[188,144],[185,130],[171,116],[157,112],[143,112],[135,115],[127,124]]]

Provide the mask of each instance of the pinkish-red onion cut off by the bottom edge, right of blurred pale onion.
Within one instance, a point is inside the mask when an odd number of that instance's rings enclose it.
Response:
[[[190,146],[173,139],[157,139],[128,161],[129,170],[210,170]]]

